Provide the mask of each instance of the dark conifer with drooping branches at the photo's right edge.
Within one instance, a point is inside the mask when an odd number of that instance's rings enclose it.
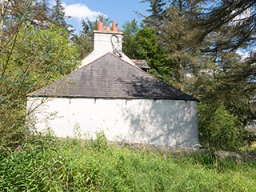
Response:
[[[215,61],[215,95],[245,126],[256,118],[255,6],[255,1],[214,1],[193,24],[201,31],[194,39],[204,44],[198,46],[202,54]],[[246,58],[239,57],[241,50]]]

